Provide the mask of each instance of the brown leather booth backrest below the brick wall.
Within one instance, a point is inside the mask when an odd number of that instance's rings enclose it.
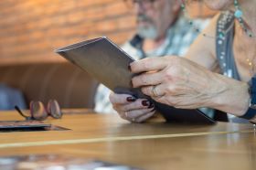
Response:
[[[0,82],[22,90],[27,104],[56,99],[61,108],[93,108],[97,87],[85,71],[68,62],[1,66]]]

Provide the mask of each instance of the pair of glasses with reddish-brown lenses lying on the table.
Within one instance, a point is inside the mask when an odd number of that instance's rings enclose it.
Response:
[[[21,116],[26,118],[26,120],[43,121],[46,120],[48,116],[55,119],[62,117],[59,103],[56,100],[49,100],[47,107],[45,107],[41,101],[31,101],[29,104],[30,115],[21,112],[17,106],[15,106],[15,109]]]

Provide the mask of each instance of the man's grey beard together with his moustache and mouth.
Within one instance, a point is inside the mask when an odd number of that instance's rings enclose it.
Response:
[[[140,21],[144,21],[148,23],[148,26],[140,26],[140,25],[137,26],[137,34],[140,37],[149,38],[149,39],[155,39],[156,37],[158,37],[158,30],[154,26],[151,18],[145,15],[140,15],[138,16],[137,21],[138,23]]]

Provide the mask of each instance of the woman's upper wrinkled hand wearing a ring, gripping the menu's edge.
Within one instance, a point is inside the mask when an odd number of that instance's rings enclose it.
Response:
[[[134,88],[176,108],[210,107],[210,100],[225,90],[216,73],[187,58],[144,58],[130,66],[133,73],[143,72],[133,78]]]

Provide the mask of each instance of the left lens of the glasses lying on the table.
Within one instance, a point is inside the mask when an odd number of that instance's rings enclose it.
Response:
[[[30,112],[32,118],[36,120],[45,120],[48,117],[48,112],[45,110],[43,103],[40,101],[30,102]]]

